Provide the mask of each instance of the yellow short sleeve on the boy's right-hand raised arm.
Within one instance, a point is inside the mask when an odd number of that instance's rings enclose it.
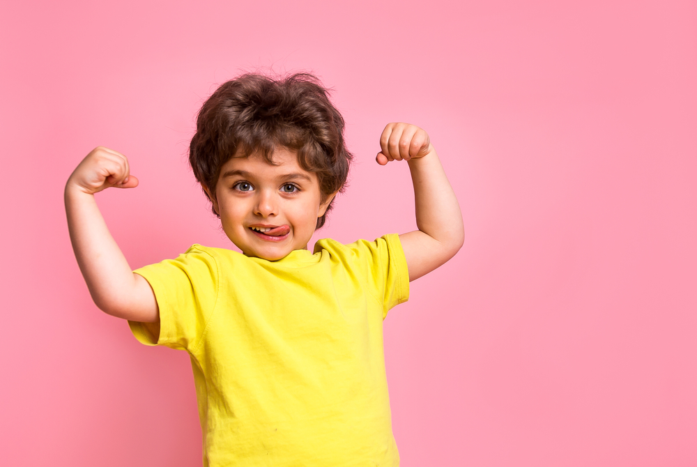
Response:
[[[369,291],[383,306],[383,319],[388,310],[409,299],[409,271],[399,235],[385,235],[372,242],[358,240],[346,246],[364,271]]]

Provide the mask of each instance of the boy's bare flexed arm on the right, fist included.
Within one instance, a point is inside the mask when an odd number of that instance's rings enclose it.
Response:
[[[452,258],[464,242],[462,213],[427,132],[407,123],[390,123],[380,138],[376,161],[407,160],[414,184],[418,230],[399,240],[409,280],[430,273]]]

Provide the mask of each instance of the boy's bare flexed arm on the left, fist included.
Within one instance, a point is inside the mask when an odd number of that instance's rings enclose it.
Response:
[[[108,187],[132,188],[128,159],[98,147],[77,166],[66,183],[66,215],[75,257],[92,299],[102,311],[123,319],[157,323],[158,303],[150,284],[132,273],[109,233],[94,194]]]

